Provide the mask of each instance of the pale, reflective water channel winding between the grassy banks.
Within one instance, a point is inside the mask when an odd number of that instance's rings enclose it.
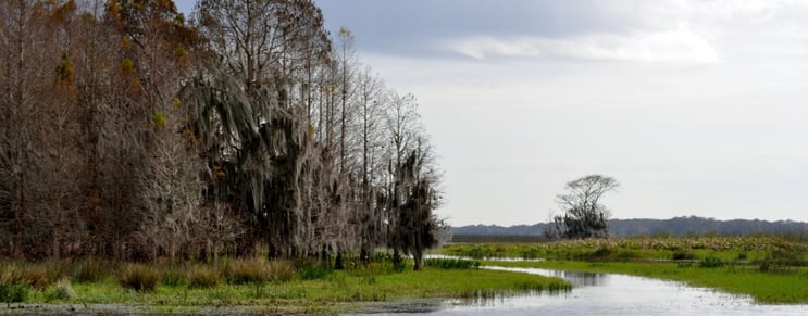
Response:
[[[446,301],[435,306],[436,311],[418,315],[808,315],[808,305],[758,305],[749,296],[681,282],[612,274],[489,268],[560,277],[574,288],[563,293]]]

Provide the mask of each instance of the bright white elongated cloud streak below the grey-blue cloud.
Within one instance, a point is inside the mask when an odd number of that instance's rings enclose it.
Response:
[[[569,38],[477,36],[453,40],[445,49],[476,59],[529,58],[607,61],[718,62],[704,37],[681,28],[670,31],[588,34]]]

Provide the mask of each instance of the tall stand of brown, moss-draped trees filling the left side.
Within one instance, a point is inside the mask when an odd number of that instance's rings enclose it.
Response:
[[[310,0],[0,3],[0,255],[394,258],[446,231],[417,99]]]

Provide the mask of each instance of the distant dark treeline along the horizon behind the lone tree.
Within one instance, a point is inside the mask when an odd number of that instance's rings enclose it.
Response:
[[[550,224],[539,223],[536,225],[517,225],[502,227],[496,225],[473,225],[453,227],[452,241],[464,242],[482,240],[485,241],[518,241],[514,236],[534,236],[538,239],[544,237]],[[733,219],[718,220],[698,216],[673,217],[671,219],[611,219],[609,220],[610,236],[643,236],[643,235],[803,235],[808,223],[793,220],[768,222],[760,219]],[[485,236],[486,238],[483,238]],[[493,239],[492,239],[493,238]]]

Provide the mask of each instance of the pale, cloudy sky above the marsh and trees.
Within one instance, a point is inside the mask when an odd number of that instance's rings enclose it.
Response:
[[[547,222],[591,174],[616,218],[808,220],[808,1],[314,2],[418,98],[452,226]]]

